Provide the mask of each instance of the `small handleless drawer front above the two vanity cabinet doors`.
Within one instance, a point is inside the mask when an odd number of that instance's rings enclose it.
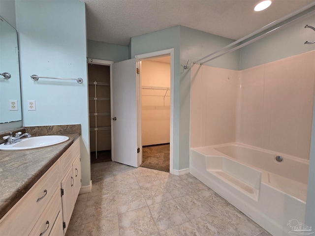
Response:
[[[80,139],[77,139],[71,146],[68,148],[60,158],[61,163],[61,176],[63,177],[72,167],[74,159],[80,154]]]

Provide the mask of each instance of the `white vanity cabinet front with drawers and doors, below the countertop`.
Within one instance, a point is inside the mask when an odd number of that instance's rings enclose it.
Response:
[[[80,188],[77,139],[0,219],[0,236],[64,235]]]

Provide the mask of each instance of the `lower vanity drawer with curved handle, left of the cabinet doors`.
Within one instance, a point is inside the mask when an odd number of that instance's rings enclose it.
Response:
[[[60,189],[57,188],[54,196],[36,222],[30,236],[48,236],[55,224],[58,215],[62,214]],[[63,226],[63,223],[60,227]]]

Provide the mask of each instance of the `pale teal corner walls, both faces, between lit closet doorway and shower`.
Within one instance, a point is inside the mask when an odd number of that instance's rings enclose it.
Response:
[[[188,27],[176,26],[131,38],[131,58],[136,55],[174,48],[174,169],[189,168],[190,69],[196,59],[233,42]],[[213,60],[208,65],[238,69],[239,52]]]

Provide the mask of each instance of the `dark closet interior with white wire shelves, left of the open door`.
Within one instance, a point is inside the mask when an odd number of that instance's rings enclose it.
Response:
[[[110,66],[88,63],[91,163],[111,161]]]

